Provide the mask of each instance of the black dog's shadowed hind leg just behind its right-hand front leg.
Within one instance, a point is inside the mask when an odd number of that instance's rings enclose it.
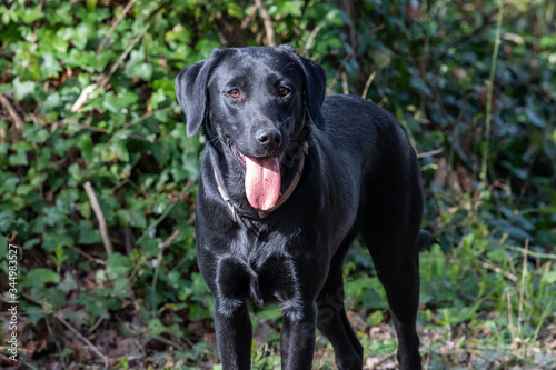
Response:
[[[353,233],[351,233],[353,234]],[[361,369],[363,346],[357,339],[344,307],[344,258],[353,237],[346,238],[332,258],[328,278],[317,299],[317,327],[332,343],[338,369]]]

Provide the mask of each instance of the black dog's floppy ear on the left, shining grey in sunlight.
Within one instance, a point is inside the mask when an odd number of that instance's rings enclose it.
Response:
[[[191,138],[199,131],[205,121],[207,110],[207,83],[210,71],[216,61],[220,59],[221,51],[212,50],[207,60],[201,60],[183,68],[176,77],[176,97],[186,113],[187,136]]]

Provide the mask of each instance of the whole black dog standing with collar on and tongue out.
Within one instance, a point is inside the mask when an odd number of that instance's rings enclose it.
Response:
[[[246,301],[284,312],[282,369],[310,369],[318,328],[339,369],[361,369],[344,309],[342,262],[360,233],[386,288],[400,369],[420,369],[416,316],[423,194],[414,149],[369,101],[325,98],[322,68],[290,47],[215,50],[176,93],[187,134],[208,139],[197,259],[216,298],[224,369],[249,369]],[[325,130],[326,129],[326,130]]]

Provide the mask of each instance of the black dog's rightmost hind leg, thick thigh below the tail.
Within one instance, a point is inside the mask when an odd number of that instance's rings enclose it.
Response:
[[[420,188],[403,180],[377,181],[367,189],[359,229],[375,262],[398,336],[401,370],[421,369],[416,320],[419,307],[418,236],[423,214]]]

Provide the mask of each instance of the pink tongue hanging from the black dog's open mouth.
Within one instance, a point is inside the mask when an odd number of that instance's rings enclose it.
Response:
[[[246,160],[245,191],[252,208],[264,211],[272,208],[280,197],[280,168],[278,158],[249,158]]]

